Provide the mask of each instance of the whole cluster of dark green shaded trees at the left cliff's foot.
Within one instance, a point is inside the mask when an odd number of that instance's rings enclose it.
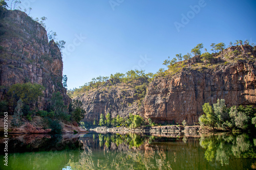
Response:
[[[47,110],[38,110],[36,104],[42,96],[42,90],[45,90],[43,86],[30,82],[24,84],[17,83],[9,87],[7,102],[1,101],[0,105],[6,110],[8,104],[9,106],[15,106],[14,118],[12,120],[13,127],[20,127],[23,117],[31,121],[34,115],[47,119],[47,127],[53,128],[52,133],[61,132],[59,120],[67,123],[80,123],[85,113],[82,109],[81,101],[74,100],[68,110],[59,91],[53,93]]]

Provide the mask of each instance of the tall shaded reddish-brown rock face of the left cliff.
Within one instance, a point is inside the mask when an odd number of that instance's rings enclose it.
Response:
[[[71,99],[62,86],[63,63],[58,46],[53,40],[48,43],[45,28],[26,13],[0,10],[0,100],[4,100],[10,85],[31,82],[46,88],[37,103],[39,109],[47,107],[56,91],[62,93],[68,105]]]

